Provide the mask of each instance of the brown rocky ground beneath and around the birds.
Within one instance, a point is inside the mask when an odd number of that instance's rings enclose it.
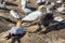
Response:
[[[5,0],[5,1],[12,2],[12,0]],[[24,17],[25,14],[22,13],[20,1],[16,0],[12,3],[15,3],[18,6],[8,5],[8,8],[11,10],[16,10],[16,12],[21,15],[21,17]],[[30,0],[30,4],[28,5],[29,6],[34,5],[34,8],[37,8],[36,0],[35,1]],[[65,18],[65,15],[61,14],[55,14],[55,16],[62,16],[63,18]],[[16,19],[13,18],[9,14],[9,12],[0,10],[0,43],[11,42],[11,40],[4,40],[4,37],[8,35],[9,30],[11,29],[12,26],[15,25],[15,22]],[[22,43],[65,43],[65,22],[54,26],[50,26],[47,29],[48,29],[47,32],[41,32],[41,34],[39,34],[39,32],[37,31],[38,30],[37,25],[25,27],[25,30],[29,32],[27,32],[21,40]]]

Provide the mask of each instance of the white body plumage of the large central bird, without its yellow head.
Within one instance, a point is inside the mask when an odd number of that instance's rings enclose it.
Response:
[[[22,20],[28,20],[28,22],[36,20],[41,15],[42,15],[42,12],[35,11],[35,12],[28,14],[27,16],[25,16]]]

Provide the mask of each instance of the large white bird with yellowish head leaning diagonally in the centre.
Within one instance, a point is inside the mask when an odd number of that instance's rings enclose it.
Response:
[[[36,20],[37,18],[39,18],[40,16],[42,16],[42,9],[44,8],[44,5],[41,5],[38,8],[37,11],[28,14],[27,16],[25,16],[22,20],[25,20],[25,22],[32,22],[32,20]]]

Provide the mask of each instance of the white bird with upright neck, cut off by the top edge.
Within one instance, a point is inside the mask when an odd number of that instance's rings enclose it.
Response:
[[[22,11],[25,13],[25,14],[29,14],[31,13],[32,11],[35,11],[36,9],[34,8],[27,8],[27,1],[28,0],[22,0],[21,4],[22,4]]]

